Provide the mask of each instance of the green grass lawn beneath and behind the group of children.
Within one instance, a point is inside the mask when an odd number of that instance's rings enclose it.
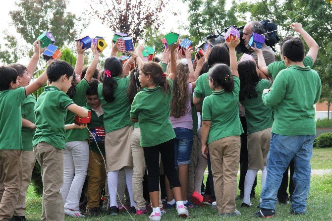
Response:
[[[332,148],[314,149],[314,155],[312,159],[313,169],[332,169]],[[206,177],[205,177],[206,178]],[[254,221],[257,220],[253,217],[253,214],[257,211],[256,206],[259,204],[259,193],[261,191],[261,176],[258,174],[257,187],[256,187],[256,199],[252,200],[253,206],[250,208],[240,208],[241,201],[237,200],[237,209],[241,212],[241,217],[221,218],[218,215],[217,210],[212,210],[208,206],[201,208],[189,209],[190,220],[192,221],[220,221],[220,220],[232,220],[232,221]],[[27,194],[27,211],[26,218],[29,221],[39,221],[41,217],[41,204],[42,200],[36,196],[34,187],[30,186]],[[277,205],[277,215],[273,220],[275,221],[332,221],[332,173],[325,175],[314,175],[311,179],[310,194],[307,200],[307,214],[303,216],[289,215],[290,205]],[[96,218],[85,218],[81,220],[85,221],[147,221],[148,215],[135,216],[132,218],[126,213],[118,216],[100,216]],[[65,218],[66,221],[78,220],[75,218]],[[175,209],[168,210],[166,215],[163,216],[164,221],[180,221],[182,219],[177,218]]]

